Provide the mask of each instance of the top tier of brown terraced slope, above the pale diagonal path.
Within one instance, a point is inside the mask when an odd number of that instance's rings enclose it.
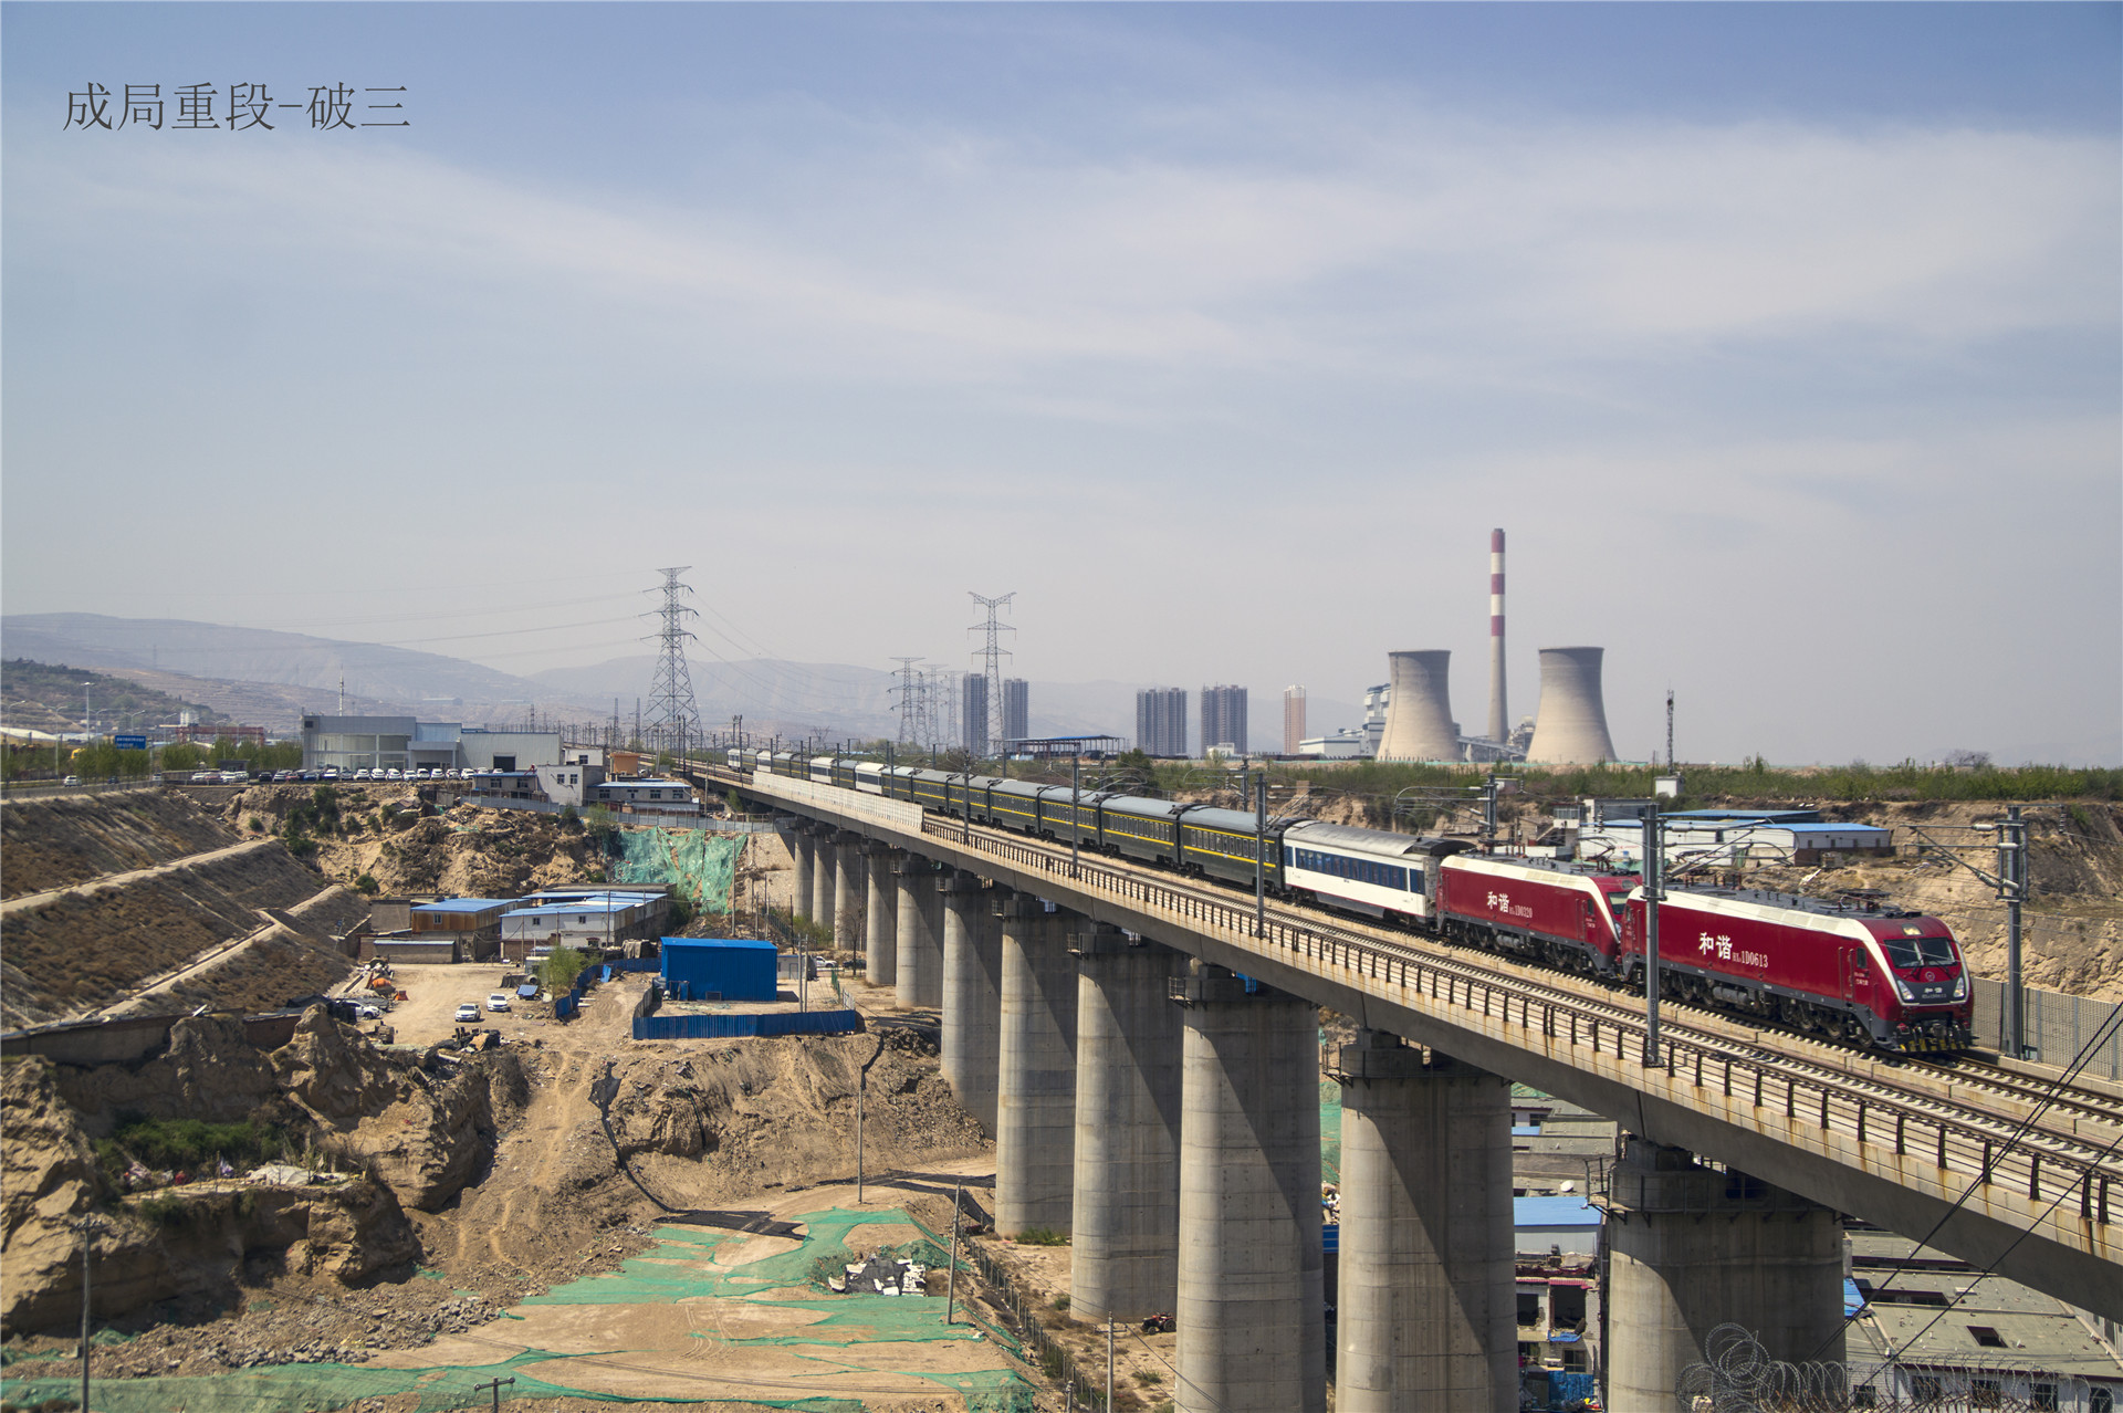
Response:
[[[234,842],[227,823],[174,791],[8,800],[0,806],[0,853],[6,855],[0,897],[172,864]]]

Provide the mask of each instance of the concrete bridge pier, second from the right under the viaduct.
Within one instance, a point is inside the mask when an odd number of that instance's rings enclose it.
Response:
[[[1512,1086],[1384,1031],[1340,1065],[1335,1407],[1512,1413]]]

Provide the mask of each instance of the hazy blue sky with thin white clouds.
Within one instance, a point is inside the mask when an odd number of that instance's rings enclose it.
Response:
[[[1272,715],[1442,647],[1480,730],[1501,526],[1514,717],[1594,643],[1624,757],[1673,690],[1684,760],[2123,764],[2119,40],[0,4],[0,605],[531,673],[686,564],[703,662],[892,668],[1015,592],[1023,677]]]

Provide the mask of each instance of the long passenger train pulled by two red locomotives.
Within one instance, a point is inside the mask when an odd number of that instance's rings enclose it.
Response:
[[[1478,853],[1316,819],[1270,819],[1115,791],[1072,793],[985,774],[798,751],[728,753],[730,770],[839,785],[1081,849],[1140,859],[1509,953],[1613,984],[1641,984],[1643,880],[1596,864]],[[1667,887],[1660,987],[1673,999],[1881,1050],[1974,1044],[1974,997],[1953,931],[1879,897]]]

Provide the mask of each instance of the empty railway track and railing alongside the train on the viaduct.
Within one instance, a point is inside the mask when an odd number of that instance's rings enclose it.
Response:
[[[752,783],[715,768],[707,774]],[[762,793],[775,793],[773,781]],[[813,798],[809,808],[832,802]],[[860,819],[864,808],[845,815]],[[1240,902],[1206,878],[1102,853],[1081,857],[1072,874],[1066,844],[964,817],[924,813],[917,834],[932,849],[989,855],[1163,912],[1180,927],[1223,934],[1229,944],[1323,980],[1376,984],[1380,999],[1412,1001],[1442,1020],[1465,1020],[1505,1044],[1543,1050],[1841,1163],[1898,1171],[1902,1182],[1932,1186],[1957,1205],[1998,1207],[1998,1199],[2008,1199],[2000,1211],[2017,1207],[2017,1220],[2049,1226],[2055,1239],[2074,1245],[2106,1245],[2106,1226],[2123,1209],[2123,1101],[2106,1088],[2068,1084],[2061,1074],[2049,1080],[1979,1057],[1936,1061],[1858,1050],[1796,1031],[1762,1031],[1684,1001],[1660,1004],[1660,1063],[1647,1065],[1643,1001],[1607,982],[1280,900],[1257,923],[1253,897]]]

